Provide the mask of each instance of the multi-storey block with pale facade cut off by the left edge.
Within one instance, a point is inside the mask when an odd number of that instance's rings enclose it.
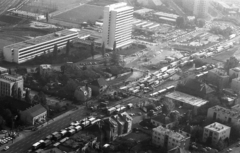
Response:
[[[23,77],[20,75],[0,75],[0,96],[15,96],[21,90],[21,97],[23,96]],[[13,87],[14,86],[14,87]],[[12,93],[14,91],[16,93]]]

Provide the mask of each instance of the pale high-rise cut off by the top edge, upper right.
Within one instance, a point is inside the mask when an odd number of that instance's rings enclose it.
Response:
[[[209,0],[194,0],[193,14],[196,17],[204,18],[208,13]]]

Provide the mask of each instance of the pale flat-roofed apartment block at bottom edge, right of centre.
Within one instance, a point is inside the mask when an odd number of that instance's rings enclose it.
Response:
[[[158,126],[153,129],[152,142],[157,146],[167,147],[168,150],[177,146],[188,150],[190,135],[182,132],[174,132],[162,126]]]

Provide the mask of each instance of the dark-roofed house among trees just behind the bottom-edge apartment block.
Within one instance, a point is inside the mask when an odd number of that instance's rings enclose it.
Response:
[[[171,119],[164,114],[151,118],[151,123],[156,127],[161,125],[167,129],[171,129],[175,125],[175,122],[171,121]]]

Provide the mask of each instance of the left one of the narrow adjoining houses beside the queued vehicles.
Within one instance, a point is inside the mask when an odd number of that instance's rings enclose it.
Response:
[[[111,117],[103,119],[103,133],[107,142],[114,141],[118,137],[118,123]]]

